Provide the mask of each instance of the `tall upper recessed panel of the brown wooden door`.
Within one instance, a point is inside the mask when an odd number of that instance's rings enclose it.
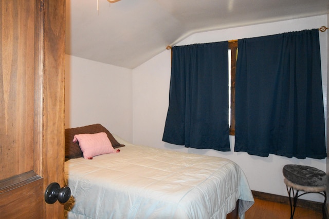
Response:
[[[33,170],[36,5],[1,4],[0,181]],[[24,4],[25,3],[25,4]],[[30,30],[32,29],[32,30]],[[24,33],[24,35],[23,35]],[[25,37],[20,37],[20,36]],[[12,165],[11,163],[15,163]]]

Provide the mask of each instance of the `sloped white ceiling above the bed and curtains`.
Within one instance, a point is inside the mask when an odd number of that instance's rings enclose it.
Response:
[[[66,54],[133,69],[196,32],[328,9],[328,0],[66,0]]]

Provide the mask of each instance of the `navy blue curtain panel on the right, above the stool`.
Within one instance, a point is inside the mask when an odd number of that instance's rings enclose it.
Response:
[[[241,39],[238,51],[234,151],[326,157],[318,29]]]

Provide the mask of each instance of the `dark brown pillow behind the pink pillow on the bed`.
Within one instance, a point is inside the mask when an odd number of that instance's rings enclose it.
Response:
[[[78,128],[65,129],[65,161],[71,158],[82,157],[83,153],[77,142],[72,142],[74,135],[76,134],[96,134],[99,132],[105,132],[113,148],[123,147],[113,135],[101,124],[94,124],[89,126],[83,126]]]

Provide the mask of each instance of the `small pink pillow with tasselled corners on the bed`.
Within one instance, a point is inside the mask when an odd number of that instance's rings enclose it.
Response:
[[[83,152],[83,157],[93,159],[93,156],[115,153],[112,143],[109,141],[105,132],[96,134],[76,134],[73,142],[79,143]]]

